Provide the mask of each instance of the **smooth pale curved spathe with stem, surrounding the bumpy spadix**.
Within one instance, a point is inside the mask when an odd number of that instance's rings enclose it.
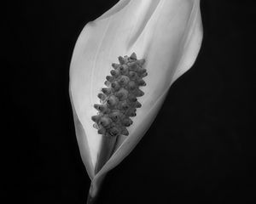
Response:
[[[120,0],[81,32],[70,65],[70,98],[79,150],[91,179],[89,200],[104,175],[116,167],[147,132],[168,89],[194,64],[201,48],[200,0]],[[127,127],[128,136],[97,133],[95,104],[119,56],[145,59],[148,76],[137,98],[142,107]],[[164,137],[161,139],[165,139]],[[156,153],[157,154],[157,153]]]

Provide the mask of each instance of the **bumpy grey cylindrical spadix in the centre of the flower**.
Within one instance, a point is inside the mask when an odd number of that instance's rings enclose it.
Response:
[[[130,57],[119,56],[119,64],[113,63],[112,76],[107,76],[102,93],[98,94],[101,104],[95,104],[98,111],[91,119],[96,122],[93,127],[106,137],[129,134],[126,127],[131,126],[131,117],[136,116],[137,108],[142,105],[137,97],[143,96],[139,87],[146,86],[143,77],[148,75],[143,68],[145,60],[137,60],[135,53]]]

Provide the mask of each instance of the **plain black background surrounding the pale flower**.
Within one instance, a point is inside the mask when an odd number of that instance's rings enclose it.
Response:
[[[118,1],[20,1],[3,7],[4,203],[84,204],[90,187],[68,96],[85,24]],[[195,65],[170,89],[98,203],[255,202],[253,1],[201,1]],[[16,203],[16,202],[15,202]]]

